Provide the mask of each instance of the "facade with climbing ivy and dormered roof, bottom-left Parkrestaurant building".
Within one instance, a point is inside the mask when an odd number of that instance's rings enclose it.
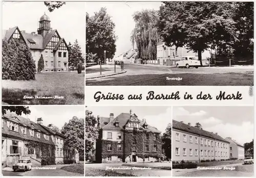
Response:
[[[55,158],[55,164],[65,159],[79,162],[78,152],[65,147],[65,136],[53,131],[51,125],[43,125],[42,118],[35,123],[13,113],[2,115],[2,167],[11,167],[18,159],[41,165],[45,149],[48,157]]]

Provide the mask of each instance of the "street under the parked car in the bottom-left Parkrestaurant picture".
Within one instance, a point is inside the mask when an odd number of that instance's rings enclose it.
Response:
[[[50,165],[50,166],[39,166],[39,167],[56,167],[56,169],[32,169],[26,172],[18,171],[13,172],[12,168],[5,167],[2,169],[4,176],[83,176],[83,174],[70,172],[61,169],[66,165]]]

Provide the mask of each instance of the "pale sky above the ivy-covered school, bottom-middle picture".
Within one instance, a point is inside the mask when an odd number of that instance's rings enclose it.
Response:
[[[138,119],[146,119],[148,125],[154,126],[163,134],[168,123],[171,123],[172,107],[163,106],[104,106],[104,107],[87,107],[93,115],[97,117],[109,117],[110,113],[116,118],[121,113],[133,113],[138,116]]]

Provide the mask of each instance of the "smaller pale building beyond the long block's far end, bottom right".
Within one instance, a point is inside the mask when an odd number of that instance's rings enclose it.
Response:
[[[229,157],[230,159],[243,160],[244,159],[244,146],[239,144],[236,140],[232,140],[232,138],[225,138],[229,144]]]

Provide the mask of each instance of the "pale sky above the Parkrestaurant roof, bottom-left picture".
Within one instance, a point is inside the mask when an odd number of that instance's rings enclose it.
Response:
[[[29,106],[30,114],[23,114],[22,117],[29,118],[36,122],[37,118],[42,118],[44,125],[50,123],[57,126],[60,130],[65,122],[69,122],[73,116],[84,118],[84,106]]]

